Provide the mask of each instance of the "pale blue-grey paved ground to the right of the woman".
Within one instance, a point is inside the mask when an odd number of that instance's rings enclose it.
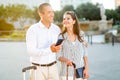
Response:
[[[89,51],[89,80],[119,80],[120,44],[93,44]]]

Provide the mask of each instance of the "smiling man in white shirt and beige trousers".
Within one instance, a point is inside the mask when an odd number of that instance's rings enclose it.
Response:
[[[53,24],[54,12],[51,5],[43,3],[38,8],[40,21],[32,25],[26,34],[27,51],[30,62],[37,66],[36,80],[59,80],[56,52],[60,46],[55,46],[60,29]],[[34,72],[31,71],[33,79]]]

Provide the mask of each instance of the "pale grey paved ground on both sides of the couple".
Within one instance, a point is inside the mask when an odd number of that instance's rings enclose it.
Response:
[[[119,80],[120,44],[93,44],[88,52],[89,80]],[[24,42],[0,42],[0,80],[22,80],[21,69],[27,65]]]

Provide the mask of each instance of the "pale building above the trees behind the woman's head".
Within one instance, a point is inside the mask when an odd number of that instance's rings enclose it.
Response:
[[[91,2],[91,0],[60,0],[60,7],[62,9],[66,5],[73,5],[74,8],[77,8],[78,5],[87,2]]]

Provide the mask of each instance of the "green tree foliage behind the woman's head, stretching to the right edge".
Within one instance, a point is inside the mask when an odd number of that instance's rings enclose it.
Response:
[[[77,13],[79,20],[85,18],[87,20],[101,20],[100,8],[97,4],[84,3],[80,4],[75,10],[71,6],[65,6],[61,11],[55,12],[55,21],[62,22],[63,13],[67,10],[73,10]],[[115,10],[106,9],[107,20],[120,21],[120,7]]]

